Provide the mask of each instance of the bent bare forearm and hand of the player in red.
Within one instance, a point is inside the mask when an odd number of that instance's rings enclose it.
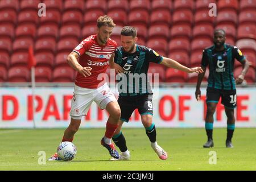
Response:
[[[81,73],[82,75],[84,75],[84,77],[88,77],[90,75],[92,75],[92,73],[90,73],[90,71],[92,70],[91,67],[82,67],[79,62],[77,61],[77,59],[79,58],[79,54],[76,52],[71,52],[68,57],[67,57],[67,62],[68,64],[75,69],[76,71],[78,71],[79,73]]]

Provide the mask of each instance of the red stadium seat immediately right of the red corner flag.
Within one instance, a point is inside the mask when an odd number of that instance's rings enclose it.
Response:
[[[35,54],[36,67],[53,68],[54,55],[52,52],[40,52]]]

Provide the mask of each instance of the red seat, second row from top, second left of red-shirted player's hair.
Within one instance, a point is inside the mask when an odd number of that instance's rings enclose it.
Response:
[[[67,24],[82,24],[82,13],[80,11],[65,11],[62,16],[62,25]]]

